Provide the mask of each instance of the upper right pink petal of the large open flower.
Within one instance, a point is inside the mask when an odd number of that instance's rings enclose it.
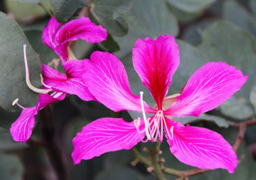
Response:
[[[223,62],[210,62],[198,69],[188,80],[177,102],[166,115],[199,116],[229,99],[247,80],[240,70]]]

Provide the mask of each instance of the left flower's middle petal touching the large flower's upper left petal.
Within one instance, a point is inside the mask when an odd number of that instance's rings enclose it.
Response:
[[[84,101],[96,101],[95,97],[90,93],[82,79],[82,74],[86,68],[85,61],[86,60],[72,60],[63,63],[68,80],[61,84],[54,85],[52,89],[56,92],[66,92],[77,95]]]

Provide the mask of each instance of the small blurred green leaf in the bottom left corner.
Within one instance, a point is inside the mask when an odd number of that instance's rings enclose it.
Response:
[[[16,156],[0,154],[0,174],[2,180],[20,180],[23,166]]]

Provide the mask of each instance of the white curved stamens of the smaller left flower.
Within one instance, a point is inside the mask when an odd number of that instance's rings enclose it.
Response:
[[[27,53],[26,53],[26,47],[27,45],[24,44],[23,45],[23,51],[24,51],[24,62],[25,62],[25,70],[26,70],[26,83],[27,83],[27,86],[29,87],[29,89],[31,89],[32,91],[36,92],[36,93],[39,93],[39,94],[47,94],[49,92],[52,92],[53,90],[51,89],[51,86],[45,84],[43,82],[43,76],[40,74],[40,77],[41,77],[41,83],[44,87],[46,87],[47,89],[39,89],[35,86],[33,86],[30,82],[30,79],[29,79],[29,66],[28,66],[28,61],[27,61]],[[61,96],[63,93],[57,93],[57,92],[53,92],[51,93],[50,95],[54,98],[57,98],[59,96]],[[18,98],[15,99],[13,102],[12,102],[12,105],[18,105],[20,108],[22,109],[25,109],[25,107],[23,107],[22,105],[18,104]]]

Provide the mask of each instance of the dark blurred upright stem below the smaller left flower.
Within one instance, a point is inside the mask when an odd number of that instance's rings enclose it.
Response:
[[[61,148],[55,136],[55,129],[51,115],[51,109],[45,107],[40,111],[40,123],[45,149],[49,160],[59,180],[68,180],[68,173],[64,165]]]

